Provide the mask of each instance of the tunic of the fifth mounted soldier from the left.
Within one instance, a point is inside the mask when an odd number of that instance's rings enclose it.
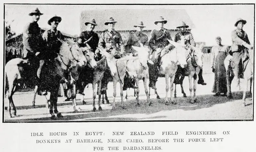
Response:
[[[125,51],[126,53],[134,53],[135,50],[132,46],[140,47],[140,44],[148,46],[148,36],[142,32],[136,31],[135,33],[131,33],[128,36],[127,42],[125,43]]]

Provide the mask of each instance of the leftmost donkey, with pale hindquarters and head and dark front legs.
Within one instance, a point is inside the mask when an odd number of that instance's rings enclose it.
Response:
[[[15,58],[7,62],[5,65],[5,74],[6,74],[5,93],[7,92],[7,90],[9,90],[8,112],[10,117],[13,117],[16,115],[16,108],[12,98],[15,92],[15,87],[20,80],[26,79],[26,76],[28,75],[28,72],[30,70],[20,65],[26,65],[27,62],[28,62],[27,60],[24,60],[21,58]],[[78,47],[77,44],[73,44],[70,46],[68,43],[62,43],[62,46],[60,48],[60,53],[53,60],[53,63],[49,65],[49,67],[50,66],[52,67],[48,71],[48,73],[51,74],[48,78],[52,80],[52,82],[48,84],[49,92],[51,92],[51,95],[50,95],[51,118],[55,117],[55,114],[53,113],[53,107],[54,107],[54,112],[57,114],[57,116],[62,117],[62,114],[57,110],[57,97],[58,97],[60,80],[64,78],[65,72],[68,70],[69,67],[76,66],[76,64],[79,64],[80,66],[82,66],[82,65],[85,65],[86,62],[87,60],[83,55],[82,50]]]

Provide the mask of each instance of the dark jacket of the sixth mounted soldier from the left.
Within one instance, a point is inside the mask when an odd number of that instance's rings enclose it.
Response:
[[[169,44],[167,39],[172,40],[171,34],[167,29],[161,29],[160,31],[153,30],[150,33],[149,47],[153,50],[156,50],[157,48],[164,48]]]

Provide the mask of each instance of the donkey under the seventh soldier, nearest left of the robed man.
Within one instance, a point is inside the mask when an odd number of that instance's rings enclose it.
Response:
[[[181,91],[183,93],[183,97],[187,97],[186,93],[184,92],[183,89],[183,80],[185,78],[185,76],[189,77],[189,85],[190,85],[190,103],[194,103],[197,102],[197,99],[195,97],[195,91],[196,91],[196,84],[197,84],[197,80],[198,80],[198,73],[200,71],[200,68],[202,68],[203,63],[202,63],[202,57],[203,57],[203,53],[202,53],[202,48],[203,48],[203,44],[199,45],[198,47],[193,47],[192,45],[189,46],[189,50],[192,48],[192,53],[188,54],[187,57],[187,66],[183,69],[183,74],[181,76],[180,79],[180,85],[181,85]],[[192,78],[193,80],[193,85],[192,85]],[[192,88],[193,86],[193,88]],[[192,100],[192,89],[194,90],[194,95],[193,95],[193,100]],[[175,84],[175,90],[174,90],[174,97],[177,97],[176,94],[176,84]]]

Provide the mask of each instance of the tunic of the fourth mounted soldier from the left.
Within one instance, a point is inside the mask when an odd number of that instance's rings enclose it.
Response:
[[[106,48],[107,50],[112,50],[113,48],[116,48],[116,51],[120,52],[121,45],[123,45],[123,40],[119,32],[115,30],[108,32],[108,30],[105,30],[100,34],[100,48]]]

